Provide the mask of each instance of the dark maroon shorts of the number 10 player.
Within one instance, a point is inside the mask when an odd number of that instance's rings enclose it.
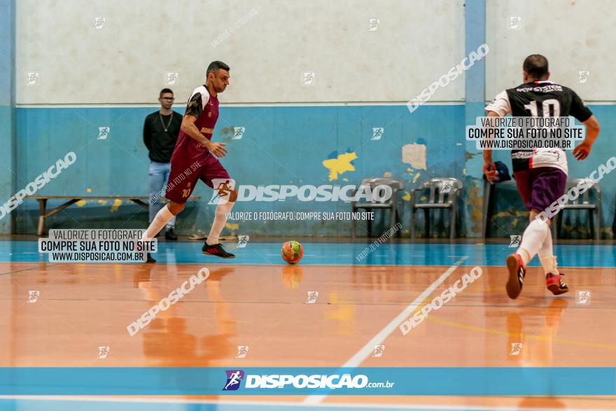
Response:
[[[541,212],[565,193],[567,174],[556,167],[520,170],[513,176],[528,211]]]

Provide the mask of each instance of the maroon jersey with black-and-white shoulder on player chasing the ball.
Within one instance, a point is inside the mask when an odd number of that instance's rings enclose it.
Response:
[[[212,97],[205,85],[200,85],[190,95],[184,115],[196,117],[195,126],[205,138],[211,140],[216,120],[218,120],[218,98]],[[172,164],[192,165],[199,161],[202,164],[202,160],[208,155],[211,153],[207,148],[180,130],[171,162]]]

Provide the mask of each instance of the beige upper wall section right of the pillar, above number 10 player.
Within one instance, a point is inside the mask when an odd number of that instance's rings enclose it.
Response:
[[[519,18],[517,28],[511,17]],[[486,99],[521,83],[524,58],[537,53],[549,60],[550,80],[586,101],[615,101],[615,20],[612,0],[488,0]],[[588,71],[585,82],[580,71]]]

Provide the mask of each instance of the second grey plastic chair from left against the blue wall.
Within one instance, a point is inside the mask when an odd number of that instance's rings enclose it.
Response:
[[[417,193],[430,190],[428,201],[416,204]],[[449,238],[456,235],[456,220],[458,218],[458,196],[462,190],[462,181],[453,178],[437,178],[423,181],[415,188],[411,196],[411,238],[415,238],[415,210],[423,209],[426,219],[426,237],[430,235],[430,209],[449,209]]]

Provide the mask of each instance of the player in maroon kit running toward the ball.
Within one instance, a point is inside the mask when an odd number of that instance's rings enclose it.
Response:
[[[195,189],[197,180],[200,179],[211,188],[215,188],[213,181],[223,181],[221,186],[224,189],[218,190],[221,201],[216,205],[214,223],[212,223],[202,252],[221,258],[235,257],[223,249],[219,236],[227,222],[227,215],[235,204],[237,191],[232,186],[227,170],[217,159],[227,154],[225,143],[211,141],[214,126],[218,120],[218,93],[225,91],[229,85],[229,71],[227,64],[218,61],[211,62],[207,68],[206,83],[195,88],[190,95],[171,158],[171,172],[169,172],[165,195],[169,202],[156,214],[148,230],[144,232],[142,240],[153,239],[169,220],[184,209],[188,197]],[[195,170],[193,170],[194,165],[197,165]],[[148,262],[154,261],[148,256]]]

